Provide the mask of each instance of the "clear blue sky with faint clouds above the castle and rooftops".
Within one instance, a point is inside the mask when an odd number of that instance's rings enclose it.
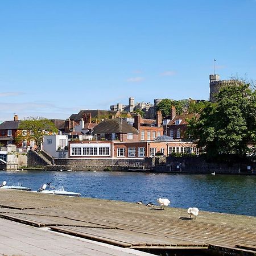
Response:
[[[256,79],[256,0],[0,0],[0,120],[67,119]]]

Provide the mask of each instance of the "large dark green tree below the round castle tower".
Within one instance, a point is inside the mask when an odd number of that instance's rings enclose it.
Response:
[[[220,155],[245,156],[255,142],[255,91],[238,80],[220,90],[216,104],[209,104],[200,118],[189,121],[188,133],[197,139],[210,158]]]

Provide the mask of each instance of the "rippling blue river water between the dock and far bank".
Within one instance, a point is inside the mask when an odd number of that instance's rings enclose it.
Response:
[[[52,181],[55,187],[83,197],[156,203],[167,197],[171,207],[197,207],[211,212],[256,216],[256,176],[174,175],[127,172],[0,171],[0,182],[22,183],[37,190]]]

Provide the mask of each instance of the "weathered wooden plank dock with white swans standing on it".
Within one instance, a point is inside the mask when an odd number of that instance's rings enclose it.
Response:
[[[141,250],[256,255],[256,217],[0,189],[0,217]]]

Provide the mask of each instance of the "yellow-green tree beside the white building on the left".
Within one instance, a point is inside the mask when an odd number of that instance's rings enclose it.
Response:
[[[16,143],[20,143],[26,139],[27,141],[35,141],[39,146],[43,142],[43,135],[48,133],[57,133],[57,129],[53,122],[43,117],[28,117],[20,121],[19,130],[26,133],[19,134],[16,137]]]

